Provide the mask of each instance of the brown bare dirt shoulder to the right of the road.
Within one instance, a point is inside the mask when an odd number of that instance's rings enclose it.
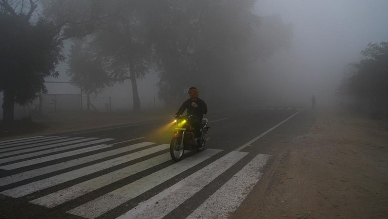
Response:
[[[320,110],[309,133],[275,158],[251,193],[236,216],[387,219],[387,120]]]

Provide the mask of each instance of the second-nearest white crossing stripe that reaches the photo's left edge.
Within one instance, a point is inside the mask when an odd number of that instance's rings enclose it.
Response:
[[[130,151],[136,150],[138,148],[146,147],[146,146],[153,145],[153,144],[155,144],[155,143],[154,142],[142,142],[142,143],[138,143],[138,144],[134,144],[134,145],[129,145],[129,146],[126,146],[126,147],[123,147],[123,148],[118,148],[118,149],[115,149],[115,150],[112,150],[112,151],[101,152],[101,153],[97,153],[97,154],[94,154],[94,155],[90,155],[90,156],[81,157],[81,158],[78,158],[78,159],[66,161],[66,162],[63,162],[63,163],[60,163],[60,164],[54,164],[54,165],[51,165],[51,166],[48,166],[48,167],[33,169],[33,170],[30,170],[30,171],[18,173],[18,174],[15,174],[15,175],[6,176],[6,177],[3,177],[3,178],[0,178],[0,186],[8,185],[8,184],[11,184],[11,183],[16,183],[16,182],[19,182],[19,181],[22,181],[22,180],[30,179],[32,177],[44,175],[44,174],[47,174],[47,173],[50,173],[50,172],[55,172],[55,171],[58,171],[58,170],[61,170],[61,169],[65,169],[65,168],[74,167],[74,166],[77,166],[77,165],[80,165],[80,164],[85,164],[85,163],[88,163],[88,162],[91,162],[91,161],[94,161],[94,160],[99,160],[99,159],[102,159],[102,158],[105,158],[105,157],[109,157],[109,156],[113,156],[113,155],[116,155],[116,154],[119,154],[119,153],[130,152]]]

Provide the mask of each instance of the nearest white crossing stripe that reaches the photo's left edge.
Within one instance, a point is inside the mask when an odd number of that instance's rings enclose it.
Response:
[[[43,180],[39,180],[36,182],[32,182],[32,183],[29,183],[26,185],[21,185],[21,186],[15,187],[15,188],[4,190],[4,191],[0,192],[0,194],[10,196],[13,198],[19,198],[19,197],[31,194],[32,192],[40,191],[42,189],[49,188],[49,187],[54,186],[54,185],[59,185],[61,183],[65,183],[67,181],[77,179],[79,177],[86,176],[88,174],[95,173],[97,171],[100,171],[100,170],[103,170],[106,168],[111,168],[111,167],[117,166],[119,164],[123,164],[123,163],[129,162],[129,161],[137,159],[137,158],[144,157],[146,155],[149,155],[149,154],[152,154],[155,152],[160,152],[160,151],[165,150],[167,148],[169,148],[169,145],[164,144],[164,145],[149,148],[149,149],[146,149],[143,151],[134,152],[134,153],[131,153],[131,154],[128,154],[125,156],[121,156],[121,157],[117,157],[117,158],[114,158],[111,160],[107,160],[107,161],[104,161],[104,162],[101,162],[98,164],[90,165],[90,166],[87,166],[84,168],[65,172],[63,174],[52,176],[52,177],[49,177],[49,178],[46,178]]]

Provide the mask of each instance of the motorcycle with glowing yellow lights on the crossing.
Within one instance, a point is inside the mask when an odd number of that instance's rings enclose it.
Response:
[[[176,124],[174,135],[170,144],[171,158],[178,162],[183,158],[185,150],[202,152],[205,150],[205,143],[210,139],[208,134],[209,126],[208,119],[202,118],[200,134],[197,142],[194,141],[194,127],[191,123],[198,119],[193,115],[190,116],[177,116],[174,123]]]

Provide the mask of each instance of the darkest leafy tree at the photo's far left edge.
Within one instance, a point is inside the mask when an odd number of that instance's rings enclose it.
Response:
[[[36,4],[29,10],[11,7],[0,0],[0,91],[3,92],[3,121],[14,120],[14,104],[25,104],[45,92],[44,78],[57,76],[56,65],[63,60],[61,44],[53,44],[55,26],[38,17],[29,20]]]

